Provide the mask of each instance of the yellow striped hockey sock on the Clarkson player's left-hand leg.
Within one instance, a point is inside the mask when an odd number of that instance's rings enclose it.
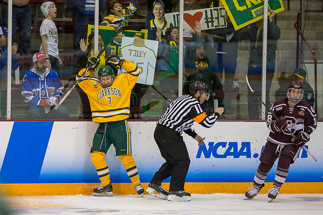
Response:
[[[105,156],[106,154],[100,151],[93,151],[91,153],[91,162],[96,167],[102,186],[106,186],[111,182],[109,168],[104,160]]]

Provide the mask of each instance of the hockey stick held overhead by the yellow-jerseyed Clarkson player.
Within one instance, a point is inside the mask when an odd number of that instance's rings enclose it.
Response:
[[[100,56],[108,48],[108,46],[111,44],[111,42],[114,40],[114,38],[116,38],[122,31],[126,31],[126,30],[141,31],[142,28],[140,26],[136,26],[136,25],[128,25],[128,26],[121,27],[116,32],[116,34],[110,39],[110,41],[108,42],[108,44],[106,46],[104,46],[104,48],[102,48],[102,50],[100,51],[100,53],[98,55],[98,59],[100,59]],[[75,84],[66,92],[66,94],[63,96],[63,98],[60,100],[60,102],[58,102],[58,104],[54,107],[54,110],[57,110],[58,109],[58,107],[63,103],[63,101],[66,99],[66,97],[72,92],[72,90],[78,84],[78,82],[80,82],[80,80],[84,77],[84,75],[87,73],[87,71],[88,71],[89,68],[90,68],[90,66],[88,66],[86,68],[85,72],[83,72],[83,74],[81,75],[81,77],[79,79],[77,79],[77,81],[75,82]]]

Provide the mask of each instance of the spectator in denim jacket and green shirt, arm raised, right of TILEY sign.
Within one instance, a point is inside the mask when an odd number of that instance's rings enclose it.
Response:
[[[203,37],[201,34],[201,25],[196,21],[195,31],[197,33],[196,41],[186,42],[183,41],[183,53],[185,49],[197,49],[202,46]],[[171,102],[171,90],[177,96],[178,91],[178,41],[179,30],[177,27],[169,27],[166,30],[166,38],[158,45],[157,56],[160,59],[157,62],[156,71],[160,71],[159,82],[163,95],[167,98],[167,101],[163,104],[162,112],[166,111],[168,104]],[[182,74],[182,71],[180,71]]]

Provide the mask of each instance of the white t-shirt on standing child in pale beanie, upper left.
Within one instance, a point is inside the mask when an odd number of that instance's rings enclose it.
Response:
[[[40,29],[40,36],[47,35],[47,51],[48,54],[54,56],[55,58],[58,57],[58,34],[57,28],[53,21],[44,19],[41,23]],[[40,45],[39,51],[44,53],[42,48],[42,44]]]

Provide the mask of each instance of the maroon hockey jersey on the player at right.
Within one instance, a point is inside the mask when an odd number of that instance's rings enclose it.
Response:
[[[294,135],[297,135],[300,131],[309,131],[309,133],[312,133],[316,129],[316,113],[313,107],[305,101],[300,101],[294,108],[290,108],[287,98],[280,99],[271,105],[270,110],[276,117],[285,118],[287,128]],[[267,141],[283,145],[293,144],[293,137],[288,131],[276,132],[276,130],[273,129],[273,122],[275,120],[276,118],[268,112],[267,127],[270,133]]]

